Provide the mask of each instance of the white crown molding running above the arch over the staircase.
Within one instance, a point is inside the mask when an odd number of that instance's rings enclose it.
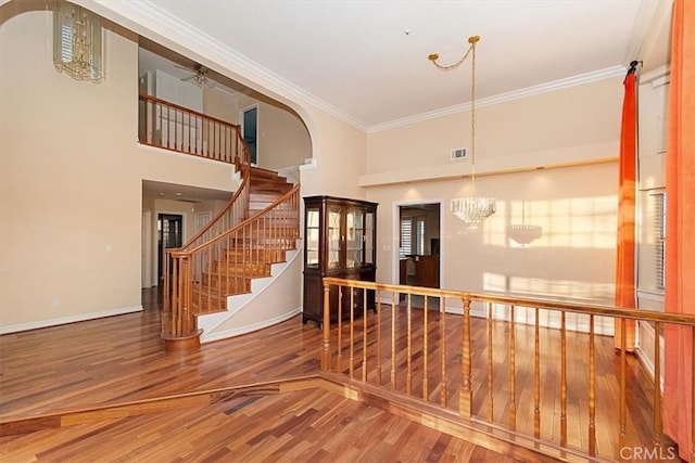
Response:
[[[263,93],[265,89],[289,101],[303,101],[363,132],[367,131],[365,124],[306,92],[301,87],[273,73],[202,30],[192,27],[149,0],[137,2],[124,0],[74,1],[109,20],[114,20],[113,13],[115,13],[127,20],[128,24],[124,25],[137,34],[153,40],[164,39],[167,42],[166,46],[178,53],[187,54],[192,52],[198,56],[198,61],[205,61],[205,63],[201,64],[205,64],[217,72],[222,66],[224,69],[242,77],[245,81],[241,83],[251,88],[255,86],[254,90]],[[156,37],[152,37],[152,34]]]

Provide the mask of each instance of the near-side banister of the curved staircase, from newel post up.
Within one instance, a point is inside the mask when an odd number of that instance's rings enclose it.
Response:
[[[199,334],[195,316],[225,310],[227,295],[249,293],[251,280],[270,275],[270,263],[299,237],[299,184],[263,211],[195,247],[167,249],[162,336]]]

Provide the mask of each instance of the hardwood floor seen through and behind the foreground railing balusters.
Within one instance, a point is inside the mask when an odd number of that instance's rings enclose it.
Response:
[[[376,342],[378,318],[367,312],[367,349],[365,353],[362,325],[364,318],[356,319],[354,343],[350,343],[350,327],[343,326],[342,346],[337,348],[338,336],[332,333],[331,347],[333,369],[340,370],[346,377],[361,381],[365,377],[363,365],[366,359],[367,382],[389,390],[424,398],[439,404],[442,389],[446,391],[446,409],[459,410],[462,387],[462,317],[428,311],[429,349],[425,355],[424,330],[425,311],[414,309],[410,322],[407,322],[404,308],[396,309],[395,323],[392,326],[391,306],[381,309],[380,349]],[[511,393],[511,325],[507,322],[493,322],[492,362],[488,357],[486,320],[471,318],[471,389],[472,416],[483,423],[516,429],[527,436],[534,435],[534,326],[517,323],[514,326],[514,378]],[[445,325],[445,330],[442,326]],[[405,333],[412,332],[408,345]],[[391,351],[391,332],[395,333],[395,356]],[[540,329],[540,437],[559,445],[560,433],[560,344],[558,330]],[[433,346],[445,339],[446,364],[442,369],[441,350]],[[619,377],[620,356],[614,348],[612,337],[595,336],[595,403],[596,403],[596,455],[608,461],[620,458],[619,424]],[[583,452],[589,451],[589,351],[590,336],[586,333],[567,333],[567,446]],[[407,351],[410,350],[408,357]],[[340,353],[340,356],[339,356]],[[427,358],[427,365],[425,359]],[[352,374],[351,365],[352,363]],[[338,366],[340,365],[340,366]],[[379,372],[380,365],[380,374]],[[392,365],[395,368],[391,370]],[[409,375],[407,374],[409,370]],[[445,375],[442,371],[445,370]],[[425,373],[427,371],[427,374]],[[490,374],[490,376],[489,376]],[[392,382],[393,375],[394,382]],[[427,381],[426,381],[427,380]],[[492,381],[492,387],[489,385]],[[633,355],[627,356],[627,427],[624,446],[630,448],[654,448],[654,386],[650,377]],[[408,393],[409,389],[409,393]],[[513,398],[514,397],[514,398]],[[510,417],[514,407],[516,417]],[[492,414],[491,414],[492,410]],[[673,442],[661,436],[665,448]]]

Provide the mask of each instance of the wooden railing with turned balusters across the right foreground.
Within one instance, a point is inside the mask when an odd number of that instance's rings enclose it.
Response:
[[[612,319],[619,355],[612,337],[596,334]],[[656,381],[626,355],[627,320],[654,326]],[[321,371],[389,399],[415,399],[422,410],[434,406],[444,427],[453,417],[549,456],[671,460],[678,453],[662,434],[658,334],[673,325],[695,338],[693,316],[325,278]]]

